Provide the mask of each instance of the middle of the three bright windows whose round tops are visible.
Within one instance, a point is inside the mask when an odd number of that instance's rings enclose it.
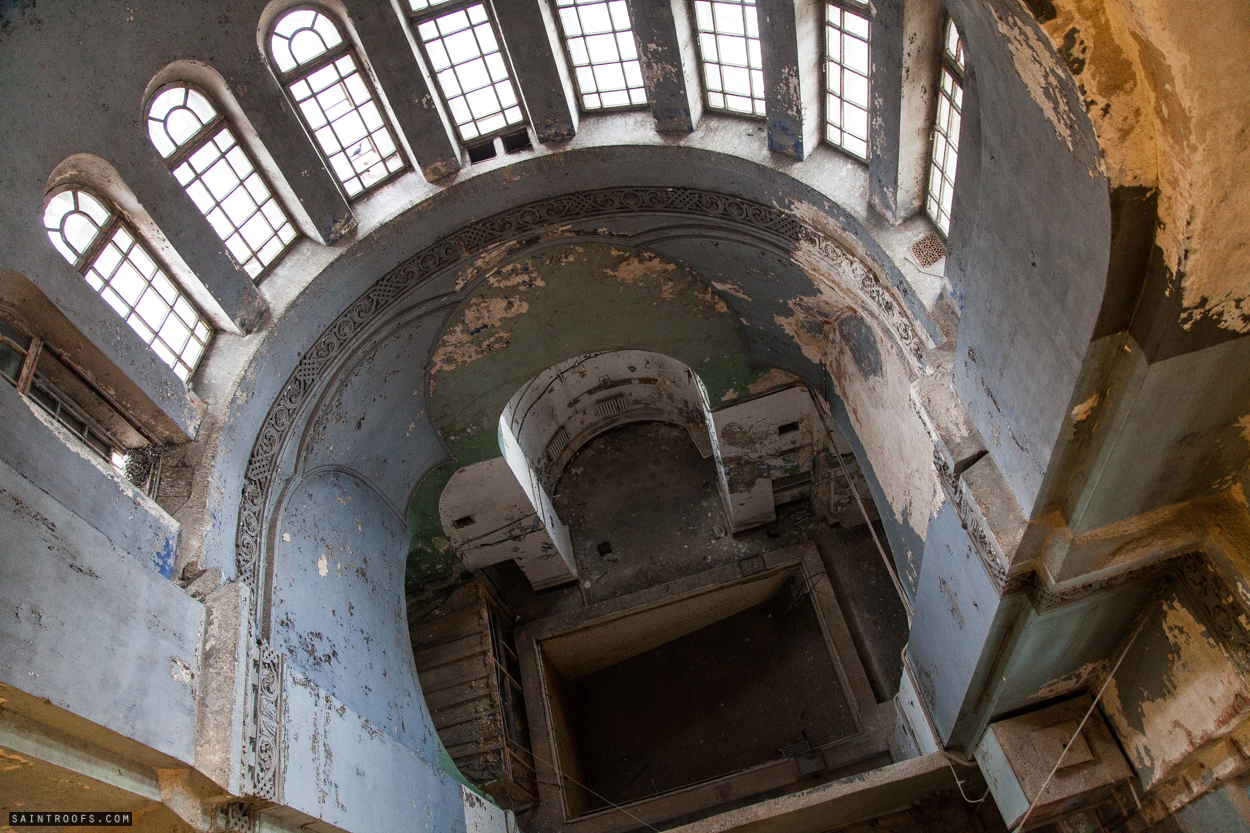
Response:
[[[148,106],[148,135],[252,279],[286,251],[294,226],[208,96],[185,84],[164,88]]]

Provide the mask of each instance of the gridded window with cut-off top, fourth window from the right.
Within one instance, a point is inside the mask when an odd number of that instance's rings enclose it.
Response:
[[[584,110],[646,106],[625,0],[556,0]]]

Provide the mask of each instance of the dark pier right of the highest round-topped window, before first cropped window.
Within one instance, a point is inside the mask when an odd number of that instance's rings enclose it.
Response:
[[[460,145],[416,60],[409,23],[389,3],[355,4],[351,23],[410,159],[431,183],[460,170]]]

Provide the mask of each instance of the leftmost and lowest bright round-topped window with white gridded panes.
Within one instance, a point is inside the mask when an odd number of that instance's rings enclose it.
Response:
[[[170,280],[121,215],[81,188],[52,196],[44,226],[58,251],[186,381],[212,338],[200,310]]]

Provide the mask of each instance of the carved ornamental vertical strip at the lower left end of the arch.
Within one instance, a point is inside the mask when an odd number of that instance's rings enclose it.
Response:
[[[282,800],[282,688],[286,663],[268,642],[251,644],[244,718],[244,760],[249,795]]]

